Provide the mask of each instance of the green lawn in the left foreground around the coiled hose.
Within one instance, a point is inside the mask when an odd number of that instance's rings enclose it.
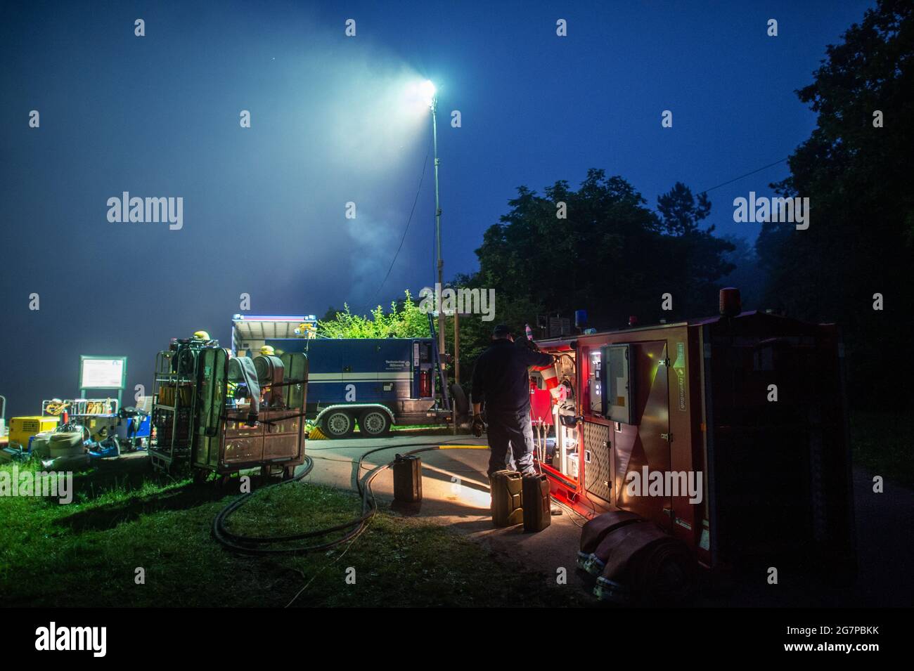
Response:
[[[572,587],[556,585],[551,575],[526,571],[450,529],[387,508],[348,548],[238,555],[218,545],[209,530],[237,488],[154,475],[143,462],[122,459],[75,475],[69,505],[0,498],[0,603],[284,606],[294,598],[295,606],[564,606],[590,601]],[[229,524],[244,534],[292,533],[351,519],[359,507],[353,493],[290,484],[261,491]],[[138,567],[144,584],[134,580]],[[350,567],[355,584],[345,581]]]

